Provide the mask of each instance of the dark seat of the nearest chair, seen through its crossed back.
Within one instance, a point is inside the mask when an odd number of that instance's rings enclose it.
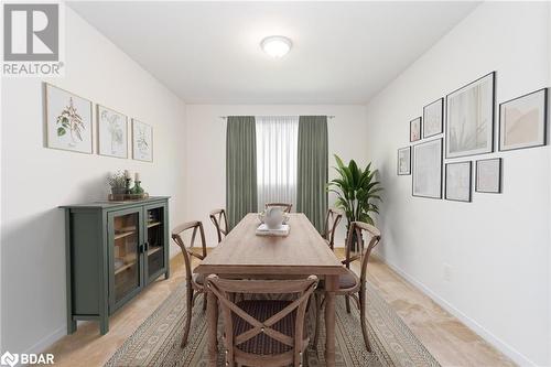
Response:
[[[290,303],[291,301],[249,300],[241,301],[237,305],[252,317],[259,321],[264,321],[283,310]],[[231,316],[234,322],[234,336],[240,335],[252,328],[249,323],[237,316],[235,313],[233,313]],[[293,311],[285,317],[278,321],[272,328],[288,336],[293,336],[295,319],[296,312]],[[290,346],[278,342],[263,333],[260,333],[245,343],[237,345],[237,348],[245,353],[263,356],[283,354],[292,349]]]

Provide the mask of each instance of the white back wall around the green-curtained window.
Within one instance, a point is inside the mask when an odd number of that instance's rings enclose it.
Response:
[[[186,216],[203,220],[208,246],[216,244],[208,213],[226,206],[226,121],[220,116],[334,115],[327,122],[329,179],[334,176],[334,153],[361,165],[367,162],[365,106],[187,105],[186,111]],[[333,202],[329,195],[329,205]],[[336,236],[336,245],[344,245],[344,220]]]

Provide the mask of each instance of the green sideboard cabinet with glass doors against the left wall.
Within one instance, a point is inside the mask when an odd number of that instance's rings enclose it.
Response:
[[[65,211],[67,334],[99,322],[169,269],[169,197],[61,206]]]

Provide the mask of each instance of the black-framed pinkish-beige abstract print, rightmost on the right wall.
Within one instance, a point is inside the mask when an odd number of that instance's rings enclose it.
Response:
[[[499,105],[499,150],[545,145],[548,89]]]

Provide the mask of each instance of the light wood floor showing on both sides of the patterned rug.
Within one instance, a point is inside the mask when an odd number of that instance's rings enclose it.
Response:
[[[337,249],[337,255],[343,257],[343,251]],[[63,337],[46,350],[54,354],[56,366],[104,365],[184,280],[182,256],[175,257],[171,265],[169,280],[158,280],[110,317],[107,335],[99,335],[97,323],[85,322],[75,334]],[[511,365],[499,352],[381,261],[370,260],[368,280],[443,366]]]

